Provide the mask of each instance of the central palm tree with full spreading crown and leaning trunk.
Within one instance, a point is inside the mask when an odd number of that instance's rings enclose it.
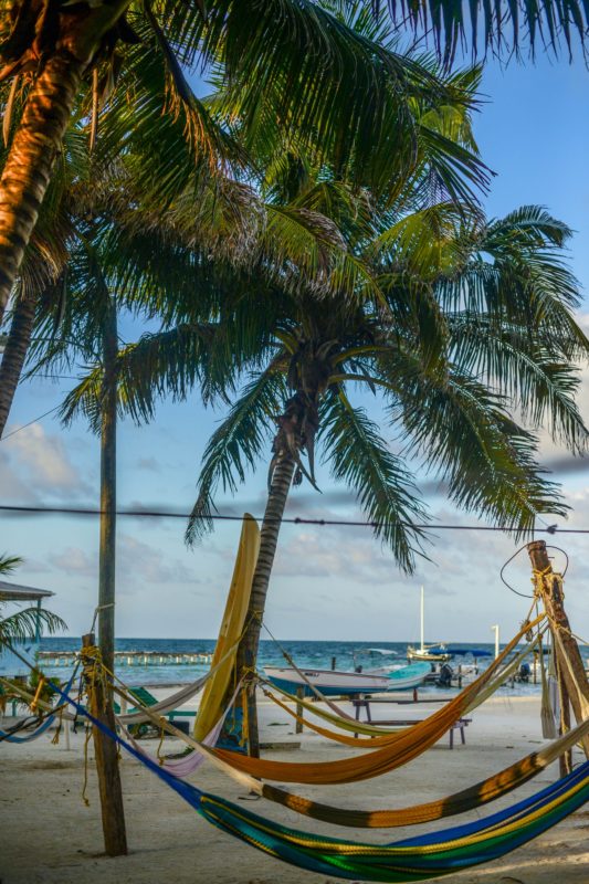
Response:
[[[338,190],[324,182],[306,199],[334,207]],[[355,298],[326,302],[313,287],[285,291],[273,280],[267,290],[257,280],[207,326],[206,348],[203,326],[187,320],[119,356],[125,402],[136,413],[152,409],[158,394],[186,396],[196,380],[214,398],[250,376],[206,449],[187,533],[193,541],[211,527],[218,487],[235,492],[271,443],[251,600],[256,617],[241,644],[241,666],[256,657],[291,485],[303,478],[316,485],[317,445],[375,534],[411,571],[427,512],[410,457],[434,470],[459,506],[517,536],[537,514],[566,511],[535,461],[534,428],[549,427],[575,453],[587,444],[572,365],[587,360],[589,341],[572,316],[576,281],[561,263],[566,225],[537,207],[487,222],[448,203],[397,219],[389,211],[368,228],[354,218],[354,246],[372,274]],[[242,349],[236,364],[223,359],[244,338],[250,355]],[[207,359],[194,371],[202,349]],[[380,396],[382,424],[354,404],[357,386]],[[399,453],[383,427],[404,440]],[[255,708],[250,716],[255,750]]]

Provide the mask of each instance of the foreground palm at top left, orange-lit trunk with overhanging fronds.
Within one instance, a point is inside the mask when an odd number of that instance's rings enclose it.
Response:
[[[348,20],[346,9],[313,0],[264,0],[255,14],[244,0],[215,0],[206,9],[177,0],[65,7],[60,0],[7,0],[0,73],[12,84],[9,119],[13,96],[23,92],[25,99],[0,179],[0,316],[78,101],[94,119],[105,102],[123,104],[127,131],[129,117],[145,128],[152,114],[152,80],[164,76],[169,118],[182,118],[194,155],[213,173],[243,157],[182,72],[197,63],[212,65],[228,94],[242,98],[242,130],[259,127],[259,108],[271,94],[281,129],[312,141],[319,155],[337,156],[341,167],[354,158],[356,169],[364,166],[381,177],[391,158],[410,166],[412,102],[428,92],[439,96],[441,84],[416,62],[350,27],[351,20],[366,30],[360,2]],[[113,97],[117,80],[125,90]],[[115,146],[118,155],[124,147]],[[164,154],[162,146],[155,151],[169,169],[171,157]],[[164,189],[169,183],[164,175],[155,180]]]

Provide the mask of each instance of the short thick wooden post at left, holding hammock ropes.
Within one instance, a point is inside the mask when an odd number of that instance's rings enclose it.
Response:
[[[83,648],[94,644],[94,633],[82,636]],[[116,729],[113,704],[104,696],[99,681],[93,692],[90,711],[95,718],[112,730]],[[108,856],[120,856],[127,853],[127,836],[116,744],[95,726],[92,728],[92,734],[96,756],[96,774],[98,775],[104,849]]]

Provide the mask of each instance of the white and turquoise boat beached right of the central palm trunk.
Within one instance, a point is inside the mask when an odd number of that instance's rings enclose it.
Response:
[[[297,670],[265,666],[267,680],[281,691],[295,694],[303,688],[305,696],[314,696],[309,683],[325,696],[353,696],[380,694],[388,691],[410,691],[423,683],[430,667],[421,663],[402,666],[386,675],[338,670]]]

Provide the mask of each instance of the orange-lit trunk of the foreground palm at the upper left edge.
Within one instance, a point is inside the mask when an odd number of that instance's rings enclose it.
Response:
[[[0,320],[36,223],[86,64],[62,50],[31,87],[0,178]]]

